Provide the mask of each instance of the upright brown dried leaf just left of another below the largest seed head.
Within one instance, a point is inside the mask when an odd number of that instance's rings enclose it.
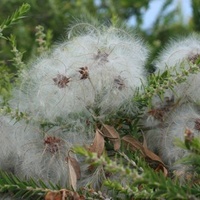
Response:
[[[104,146],[105,141],[103,134],[99,129],[96,129],[93,143],[89,146],[88,150],[90,152],[97,153],[97,156],[100,157],[103,154]]]

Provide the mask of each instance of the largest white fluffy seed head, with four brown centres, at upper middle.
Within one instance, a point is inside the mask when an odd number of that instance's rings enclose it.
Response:
[[[88,107],[104,115],[145,82],[146,57],[141,40],[113,27],[76,35],[23,73],[12,104],[50,121]]]

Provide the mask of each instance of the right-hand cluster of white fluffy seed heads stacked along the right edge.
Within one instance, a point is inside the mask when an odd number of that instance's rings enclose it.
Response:
[[[177,147],[175,141],[200,136],[199,55],[200,37],[191,35],[173,41],[155,61],[155,74],[168,71],[170,77],[167,87],[160,90],[162,97],[154,93],[152,107],[147,109],[143,124],[150,129],[146,132],[149,148],[157,151],[175,175],[185,175],[191,170],[184,164],[176,164],[188,152]]]

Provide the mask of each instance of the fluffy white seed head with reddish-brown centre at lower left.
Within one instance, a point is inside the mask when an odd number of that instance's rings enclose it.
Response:
[[[69,175],[65,162],[66,152],[73,146],[67,137],[72,137],[72,133],[64,134],[60,128],[53,127],[45,131],[46,136],[43,136],[43,130],[36,124],[27,124],[26,129],[21,127],[19,133],[20,160],[16,174],[21,178],[35,177],[46,183],[54,181],[66,186]]]

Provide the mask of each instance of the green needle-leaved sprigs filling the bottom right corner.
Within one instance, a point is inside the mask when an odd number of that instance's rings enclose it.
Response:
[[[88,152],[86,149],[77,147],[74,150],[86,156],[95,166],[104,165],[107,172],[117,174],[118,177],[120,175],[129,180],[128,185],[123,185],[121,181],[117,180],[105,180],[104,185],[113,191],[116,199],[120,199],[118,198],[120,195],[125,195],[126,198],[134,197],[134,199],[190,199],[200,197],[199,186],[196,184],[192,186],[180,185],[147,166],[141,173],[135,168],[131,169],[121,163],[116,163],[108,157],[98,157],[97,154]]]

